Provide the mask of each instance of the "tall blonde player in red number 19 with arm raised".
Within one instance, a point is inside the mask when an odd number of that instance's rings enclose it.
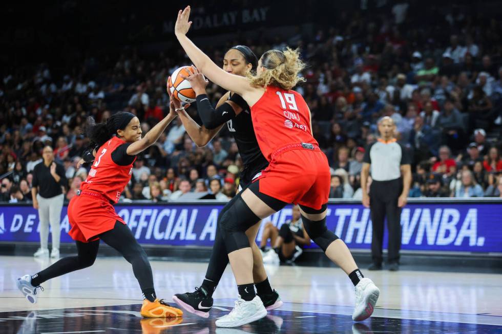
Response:
[[[190,6],[178,12],[175,25],[178,41],[199,71],[217,85],[242,96],[242,104],[250,106],[258,144],[270,162],[258,181],[239,193],[234,205],[218,221],[240,298],[231,313],[216,320],[216,325],[236,327],[267,314],[253,288],[253,253],[245,231],[287,203],[300,205],[307,234],[353,282],[356,301],[352,319],[368,318],[380,291],[369,278],[364,278],[345,243],[326,227],[328,161],[312,137],[310,110],[305,100],[291,90],[303,80],[298,74],[305,65],[298,52],[267,51],[258,62],[256,75],[247,78],[232,75],[220,69],[186,37],[192,24],[189,16]]]

